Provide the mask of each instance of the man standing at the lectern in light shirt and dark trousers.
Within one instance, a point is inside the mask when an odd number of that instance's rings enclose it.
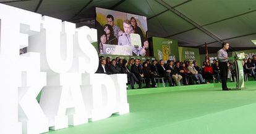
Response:
[[[222,90],[231,90],[227,87],[227,78],[228,78],[228,52],[229,43],[223,42],[222,49],[217,53],[220,72],[221,72],[221,85]]]

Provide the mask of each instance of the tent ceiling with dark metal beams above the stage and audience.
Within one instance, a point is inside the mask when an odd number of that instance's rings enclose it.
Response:
[[[255,0],[0,0],[61,20],[90,25],[94,7],[148,17],[150,36],[178,39],[179,45],[256,47]]]

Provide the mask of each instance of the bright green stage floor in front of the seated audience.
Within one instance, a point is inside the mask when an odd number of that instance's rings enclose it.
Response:
[[[256,82],[245,82],[245,87],[221,91],[220,84],[203,84],[129,90],[129,114],[49,133],[256,133]]]

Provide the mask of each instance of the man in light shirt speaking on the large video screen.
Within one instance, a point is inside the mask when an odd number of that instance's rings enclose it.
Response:
[[[132,31],[132,25],[130,23],[130,20],[124,20],[123,26],[124,26],[124,33],[121,36],[119,36],[118,45],[129,45],[132,49],[132,53],[134,53],[137,56],[139,55],[145,56],[146,50],[144,47],[135,47],[131,43],[130,34]]]

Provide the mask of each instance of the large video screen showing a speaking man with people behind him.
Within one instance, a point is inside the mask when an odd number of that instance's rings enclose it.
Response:
[[[147,17],[98,7],[95,10],[100,54],[151,56]]]

